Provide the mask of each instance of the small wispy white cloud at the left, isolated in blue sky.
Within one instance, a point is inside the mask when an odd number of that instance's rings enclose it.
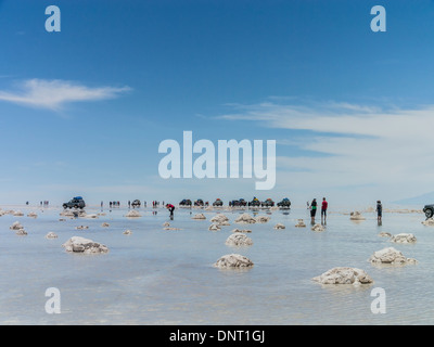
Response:
[[[60,79],[28,79],[20,82],[16,91],[0,91],[0,101],[59,111],[67,103],[113,99],[129,90],[129,87],[91,88]]]

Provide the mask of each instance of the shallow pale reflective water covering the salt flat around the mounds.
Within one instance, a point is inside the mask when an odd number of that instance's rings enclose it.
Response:
[[[3,207],[3,209],[7,209]],[[207,220],[192,220],[190,209],[168,213],[139,209],[143,217],[124,217],[127,209],[105,209],[98,219],[59,221],[58,208],[21,209],[25,216],[0,217],[1,324],[433,324],[434,227],[421,224],[421,214],[374,214],[353,222],[330,213],[327,230],[310,230],[308,211],[272,211],[260,224],[237,224],[242,211],[224,211],[231,226],[208,231]],[[26,217],[34,210],[38,218]],[[88,208],[88,214],[99,213]],[[252,214],[250,210],[248,213]],[[259,215],[266,215],[264,210]],[[307,228],[295,228],[298,218]],[[9,227],[20,221],[28,232],[17,236]],[[318,220],[318,219],[317,219]],[[103,222],[108,228],[103,228]],[[163,230],[163,222],[181,230]],[[275,230],[281,222],[284,230]],[[76,230],[77,226],[88,230]],[[232,229],[251,229],[254,244],[229,247]],[[126,229],[131,235],[124,235]],[[59,239],[47,240],[53,231]],[[413,245],[393,244],[381,231],[411,232]],[[74,235],[105,244],[104,255],[68,254],[62,244]],[[375,250],[393,246],[417,265],[375,267],[367,260]],[[239,253],[255,264],[248,270],[219,270],[222,255]],[[373,284],[320,285],[311,279],[348,266],[363,269]],[[48,314],[48,287],[61,293],[61,313]],[[386,293],[386,313],[371,312],[374,287]]]

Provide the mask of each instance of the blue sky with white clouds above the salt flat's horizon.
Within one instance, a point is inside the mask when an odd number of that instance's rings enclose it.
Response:
[[[424,0],[0,1],[0,204],[432,191],[433,20]],[[162,179],[158,144],[186,130],[276,140],[275,189]]]

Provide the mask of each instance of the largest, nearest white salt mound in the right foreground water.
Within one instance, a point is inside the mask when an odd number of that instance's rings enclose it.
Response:
[[[363,270],[348,267],[337,267],[330,269],[319,277],[312,279],[321,284],[369,284],[372,279]]]

